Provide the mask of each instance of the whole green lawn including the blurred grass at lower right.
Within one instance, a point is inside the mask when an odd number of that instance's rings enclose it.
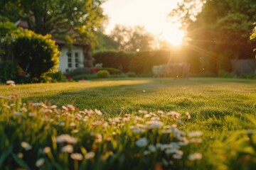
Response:
[[[14,87],[1,85],[0,91],[2,96],[19,96],[23,102],[44,101],[59,107],[70,103],[80,110],[97,108],[105,118],[139,110],[176,111],[183,115],[188,112],[191,120],[186,120],[180,129],[203,132],[203,143],[190,148],[201,152],[203,159],[186,163],[181,168],[255,168],[256,152],[252,147],[256,141],[247,146],[244,131],[256,130],[255,80],[106,79]],[[250,156],[241,154],[244,152]]]

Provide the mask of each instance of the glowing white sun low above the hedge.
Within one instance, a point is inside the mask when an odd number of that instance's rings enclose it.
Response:
[[[185,32],[175,26],[167,27],[162,32],[162,39],[169,42],[171,45],[182,45]]]

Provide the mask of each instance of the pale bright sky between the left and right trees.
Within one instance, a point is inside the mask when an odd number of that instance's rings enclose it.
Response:
[[[168,20],[168,13],[180,0],[107,0],[103,5],[109,17],[106,33],[116,24],[124,26],[144,26],[149,33],[167,41],[175,40],[183,32],[178,25]]]

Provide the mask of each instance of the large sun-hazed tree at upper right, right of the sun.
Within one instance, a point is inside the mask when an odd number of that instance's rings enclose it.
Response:
[[[252,21],[256,20],[254,0],[201,1],[197,13],[193,13],[195,6],[189,6],[190,3],[193,1],[183,1],[170,16],[179,16],[191,40],[188,47],[197,51],[198,57],[208,60],[208,70],[228,71],[230,59],[254,57],[248,38]]]

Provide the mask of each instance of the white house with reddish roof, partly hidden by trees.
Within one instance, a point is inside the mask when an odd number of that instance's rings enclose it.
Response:
[[[26,21],[18,21],[15,24],[23,29],[28,29],[28,23]],[[74,31],[74,28],[70,31]],[[75,42],[70,50],[65,44],[65,41],[55,38],[52,38],[52,40],[55,41],[55,44],[58,45],[58,50],[61,52],[59,71],[66,73],[83,67],[92,67],[92,57],[89,54],[90,45],[82,45]]]

